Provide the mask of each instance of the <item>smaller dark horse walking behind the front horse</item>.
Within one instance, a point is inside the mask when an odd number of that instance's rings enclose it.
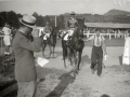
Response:
[[[52,32],[50,34],[49,38],[47,38],[47,40],[42,41],[42,55],[44,57],[44,50],[47,47],[47,44],[49,45],[50,48],[50,54],[49,54],[49,58],[51,57],[51,54],[53,53],[53,57],[54,57],[54,48],[56,45],[56,38],[58,36],[58,28],[55,27],[52,29]],[[42,34],[42,39],[43,39],[44,34]]]

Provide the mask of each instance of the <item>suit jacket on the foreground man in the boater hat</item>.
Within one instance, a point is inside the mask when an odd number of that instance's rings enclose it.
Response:
[[[34,38],[31,42],[21,31],[16,32],[13,39],[16,81],[35,81],[37,79],[34,52],[40,52],[40,48],[41,38]]]

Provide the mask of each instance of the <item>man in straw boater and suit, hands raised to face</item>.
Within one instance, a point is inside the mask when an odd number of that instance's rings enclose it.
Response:
[[[34,60],[34,52],[40,52],[41,38],[36,28],[36,18],[23,15],[20,19],[21,27],[13,39],[13,51],[15,55],[15,80],[17,81],[17,97],[35,97],[37,86],[37,72]],[[35,28],[35,30],[32,30]],[[34,37],[30,41],[27,34]]]

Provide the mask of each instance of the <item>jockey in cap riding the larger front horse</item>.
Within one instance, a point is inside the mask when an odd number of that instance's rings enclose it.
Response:
[[[68,32],[67,39],[68,40],[72,39],[76,26],[77,26],[77,19],[76,19],[76,16],[75,16],[75,12],[72,12],[70,13],[70,18],[67,20],[67,29],[68,29],[67,30],[67,32]]]

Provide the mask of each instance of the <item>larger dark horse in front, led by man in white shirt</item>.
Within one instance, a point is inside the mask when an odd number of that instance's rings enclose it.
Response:
[[[64,66],[66,68],[65,59],[67,57],[72,65],[74,61],[75,63],[75,65],[73,65],[74,74],[75,74],[75,71],[77,72],[77,70],[79,70],[79,65],[81,61],[81,54],[82,54],[82,50],[84,46],[84,42],[82,40],[83,29],[84,29],[84,19],[77,19],[77,20],[78,20],[78,25],[76,27],[76,30],[74,31],[72,40],[65,41],[64,40],[65,36],[63,36],[62,38]]]

